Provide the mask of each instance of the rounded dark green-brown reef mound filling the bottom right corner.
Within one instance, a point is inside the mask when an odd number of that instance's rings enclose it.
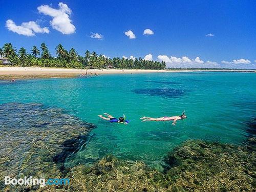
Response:
[[[254,191],[256,155],[246,146],[189,140],[166,158],[166,177],[179,190]]]

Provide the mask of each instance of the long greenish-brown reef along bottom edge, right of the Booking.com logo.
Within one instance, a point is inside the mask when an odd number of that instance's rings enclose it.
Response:
[[[255,191],[255,162],[245,146],[189,140],[167,155],[164,173],[107,156],[69,176],[74,191]]]

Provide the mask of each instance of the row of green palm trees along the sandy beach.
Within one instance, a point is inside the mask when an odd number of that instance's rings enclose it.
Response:
[[[61,44],[56,48],[56,57],[50,53],[45,42],[42,42],[40,49],[33,46],[30,53],[25,48],[18,51],[11,44],[7,43],[0,48],[0,57],[7,57],[10,65],[20,67],[55,67],[55,68],[75,68],[75,69],[165,69],[165,62],[149,61],[142,58],[125,59],[109,58],[104,55],[98,55],[95,51],[88,50],[84,55],[79,55],[74,48],[69,51]]]

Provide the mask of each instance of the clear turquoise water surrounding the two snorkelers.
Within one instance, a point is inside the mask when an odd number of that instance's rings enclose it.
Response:
[[[56,106],[97,128],[67,166],[92,163],[106,154],[159,166],[167,152],[187,139],[240,144],[256,112],[255,73],[151,73],[93,78],[0,81],[0,103]],[[180,115],[172,122],[141,122],[142,116]],[[127,125],[97,117],[125,114]]]

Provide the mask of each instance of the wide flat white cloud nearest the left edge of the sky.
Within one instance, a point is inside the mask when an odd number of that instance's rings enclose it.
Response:
[[[25,22],[22,25],[17,26],[13,20],[8,19],[6,21],[6,27],[8,30],[17,33],[19,35],[25,36],[35,36],[35,33],[49,33],[49,29],[47,27],[41,28],[35,22]]]

